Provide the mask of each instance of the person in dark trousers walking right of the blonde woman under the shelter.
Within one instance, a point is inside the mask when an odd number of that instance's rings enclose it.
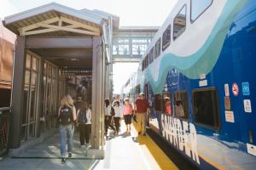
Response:
[[[81,105],[81,107],[79,108],[77,122],[79,123],[81,148],[82,149],[89,148],[90,129],[91,129],[91,111],[87,105],[87,102],[84,102],[83,105]],[[84,139],[86,144],[84,143]]]

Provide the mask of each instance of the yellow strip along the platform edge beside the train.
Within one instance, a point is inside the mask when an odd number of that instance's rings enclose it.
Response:
[[[133,130],[137,132],[137,123],[134,122],[133,125]],[[151,162],[151,166],[154,166],[155,168],[158,167],[157,169],[163,170],[178,169],[177,166],[172,162],[172,160],[170,160],[170,158],[166,156],[166,154],[158,147],[157,144],[154,143],[153,139],[151,139],[148,135],[138,135],[137,142],[143,150],[143,153],[146,156],[148,162]],[[157,165],[154,165],[155,163]]]

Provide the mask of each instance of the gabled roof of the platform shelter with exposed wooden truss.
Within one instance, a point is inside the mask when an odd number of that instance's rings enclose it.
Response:
[[[101,36],[107,14],[49,3],[4,18],[3,25],[18,36]]]

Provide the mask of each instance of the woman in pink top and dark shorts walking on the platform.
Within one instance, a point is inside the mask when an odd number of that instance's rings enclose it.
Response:
[[[131,132],[131,116],[132,116],[132,105],[130,103],[129,98],[125,98],[125,105],[124,105],[124,110],[123,110],[123,115],[125,119],[125,125],[126,125],[126,133]]]

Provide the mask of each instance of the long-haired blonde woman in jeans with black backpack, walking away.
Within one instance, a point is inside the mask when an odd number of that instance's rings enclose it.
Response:
[[[66,139],[68,157],[72,157],[74,122],[77,119],[76,109],[73,105],[73,99],[70,95],[65,95],[65,97],[61,99],[58,119],[61,134],[61,163],[63,164],[66,162]]]

